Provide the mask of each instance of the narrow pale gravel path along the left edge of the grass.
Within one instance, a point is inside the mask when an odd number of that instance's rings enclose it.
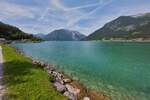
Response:
[[[3,100],[4,84],[3,84],[3,56],[2,47],[0,46],[0,100]]]

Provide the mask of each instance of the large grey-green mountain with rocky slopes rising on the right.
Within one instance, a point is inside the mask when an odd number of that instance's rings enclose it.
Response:
[[[86,40],[110,38],[150,38],[150,13],[134,16],[120,16],[89,35]]]

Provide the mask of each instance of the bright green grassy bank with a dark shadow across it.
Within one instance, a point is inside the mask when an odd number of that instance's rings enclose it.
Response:
[[[50,82],[50,76],[8,45],[2,45],[4,82],[9,100],[67,100]]]

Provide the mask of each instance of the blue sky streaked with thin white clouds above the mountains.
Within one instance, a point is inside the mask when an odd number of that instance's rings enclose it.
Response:
[[[119,17],[150,12],[150,0],[0,0],[0,21],[27,33],[89,35]]]

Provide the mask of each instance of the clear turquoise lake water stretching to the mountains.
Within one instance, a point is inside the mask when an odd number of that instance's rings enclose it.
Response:
[[[150,100],[150,43],[61,41],[15,46],[28,56],[56,64],[112,100]]]

